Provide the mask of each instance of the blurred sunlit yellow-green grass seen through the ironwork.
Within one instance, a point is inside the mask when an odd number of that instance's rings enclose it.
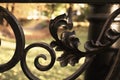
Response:
[[[87,40],[87,32],[88,32],[87,28],[79,27],[75,29],[75,31],[76,31],[77,37],[79,37],[81,42],[79,49],[84,51],[84,43]],[[26,44],[29,45],[34,42],[50,43],[51,40],[52,38],[44,39],[44,40],[29,40],[29,41],[27,40]],[[75,72],[83,62],[82,60],[80,60],[75,67],[72,67],[70,65],[68,65],[67,67],[61,67],[59,62],[56,61],[52,69],[50,69],[49,71],[41,72],[41,71],[38,71],[33,64],[34,58],[41,52],[42,54],[47,55],[48,60],[45,61],[43,59],[40,59],[40,61],[42,61],[41,63],[47,64],[50,60],[50,57],[47,51],[44,49],[33,48],[28,52],[28,55],[27,55],[28,67],[30,68],[32,73],[35,74],[37,77],[39,77],[41,80],[63,80],[64,78],[66,78],[67,76]],[[0,63],[3,64],[7,62],[11,58],[13,53],[14,53],[14,48],[1,46],[0,47]],[[57,57],[60,56],[61,54],[62,52],[56,52]],[[76,80],[84,80],[83,76],[84,75],[81,75]],[[19,62],[11,70],[0,73],[0,80],[29,80],[29,79],[24,75]]]

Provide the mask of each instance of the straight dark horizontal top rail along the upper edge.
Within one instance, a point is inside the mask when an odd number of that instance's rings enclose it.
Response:
[[[22,3],[92,3],[92,4],[101,4],[101,3],[120,3],[119,0],[0,0],[0,2],[22,2]]]

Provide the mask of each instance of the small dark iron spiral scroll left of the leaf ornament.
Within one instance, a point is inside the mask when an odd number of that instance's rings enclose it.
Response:
[[[46,60],[46,56],[44,54],[40,54],[35,58],[34,65],[40,71],[47,71],[47,70],[51,69],[55,63],[56,55],[55,55],[54,50],[48,44],[42,43],[42,42],[30,44],[28,47],[25,48],[24,54],[22,55],[22,59],[21,59],[22,70],[30,80],[39,80],[39,78],[37,78],[36,76],[34,76],[34,74],[31,73],[31,71],[29,70],[29,68],[26,64],[27,52],[31,48],[34,48],[34,47],[42,47],[42,48],[46,49],[50,53],[50,56],[51,56],[51,62],[46,66],[41,65],[38,61],[39,58],[43,58]]]

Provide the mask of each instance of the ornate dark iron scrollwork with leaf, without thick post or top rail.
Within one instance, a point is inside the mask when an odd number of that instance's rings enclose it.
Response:
[[[7,71],[14,67],[19,61],[21,62],[21,67],[25,75],[30,80],[39,80],[28,68],[26,64],[26,55],[27,52],[34,47],[42,47],[45,48],[51,56],[51,62],[47,66],[43,66],[38,62],[39,58],[47,59],[44,54],[40,54],[36,56],[34,59],[35,67],[40,71],[47,71],[54,66],[56,60],[56,54],[53,50],[55,47],[56,51],[63,51],[63,54],[57,58],[62,67],[67,66],[67,64],[71,64],[75,66],[76,63],[82,57],[85,57],[86,60],[82,66],[78,70],[76,70],[72,75],[65,78],[65,80],[75,80],[82,72],[84,72],[93,61],[93,58],[96,54],[104,53],[108,50],[119,38],[120,32],[111,29],[110,25],[114,21],[114,19],[120,14],[120,8],[114,11],[107,19],[105,24],[103,25],[103,29],[96,41],[87,41],[85,43],[86,52],[83,52],[78,49],[79,39],[75,36],[75,31],[72,30],[73,23],[71,19],[71,11],[68,14],[62,14],[57,16],[55,19],[52,19],[49,23],[49,30],[51,36],[54,38],[54,41],[50,43],[50,45],[40,42],[40,43],[32,43],[25,48],[25,36],[22,30],[22,27],[18,23],[17,19],[6,9],[0,7],[0,18],[5,18],[6,21],[11,25],[13,32],[16,38],[16,49],[12,59],[5,63],[0,64],[0,72]],[[59,27],[63,27],[64,31],[60,36],[58,35]],[[120,50],[120,49],[119,49]],[[115,61],[111,66],[108,75],[105,80],[110,80],[113,73],[115,72],[115,68],[118,65],[120,52],[116,53]]]

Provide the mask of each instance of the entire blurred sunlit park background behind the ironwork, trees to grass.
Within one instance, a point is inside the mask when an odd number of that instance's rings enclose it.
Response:
[[[90,13],[88,4],[67,4],[67,3],[0,3],[0,6],[8,9],[19,21],[25,34],[26,46],[34,42],[50,43],[53,38],[49,33],[50,19],[56,16],[67,13],[70,6],[72,6],[72,20],[76,31],[76,36],[80,39],[80,50],[84,51],[84,43],[87,40],[88,26],[87,16]],[[0,25],[0,64],[4,64],[11,59],[15,50],[15,38],[10,25]],[[56,61],[54,67],[46,72],[38,71],[34,67],[34,58],[39,53],[45,53],[48,60],[40,60],[45,64],[49,62],[49,55],[44,49],[33,48],[27,55],[27,64],[31,71],[41,80],[62,80],[75,72],[84,62],[82,58],[74,67],[68,65],[61,67]],[[62,52],[56,52],[59,57]],[[83,73],[84,74],[84,73]],[[0,80],[28,80],[22,72],[20,63],[14,68],[4,73],[0,73]],[[84,80],[83,75],[77,80]]]

